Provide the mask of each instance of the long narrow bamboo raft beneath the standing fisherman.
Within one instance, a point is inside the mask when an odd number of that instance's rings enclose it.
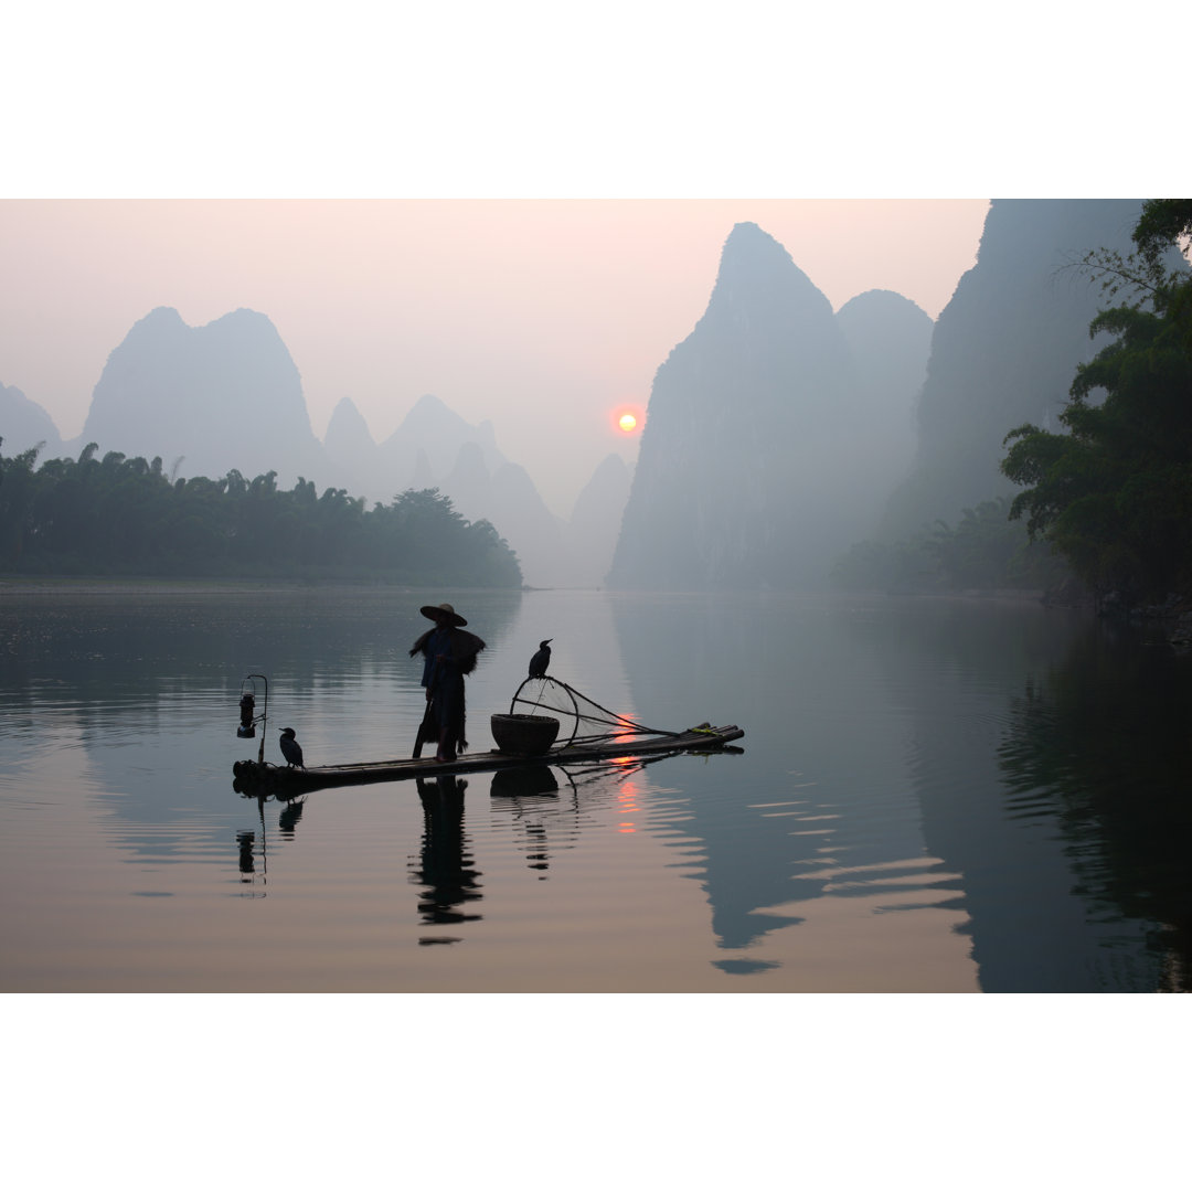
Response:
[[[237,762],[232,766],[234,788],[242,794],[277,795],[290,799],[324,787],[350,787],[367,782],[399,782],[403,778],[433,778],[442,774],[478,774],[526,765],[569,765],[583,762],[613,762],[659,753],[720,751],[745,735],[744,728],[725,725],[714,728],[697,725],[682,733],[632,740],[602,740],[555,746],[535,757],[503,753],[464,753],[454,762],[401,758],[392,762],[355,762],[347,765],[311,765],[304,770],[269,762]]]

